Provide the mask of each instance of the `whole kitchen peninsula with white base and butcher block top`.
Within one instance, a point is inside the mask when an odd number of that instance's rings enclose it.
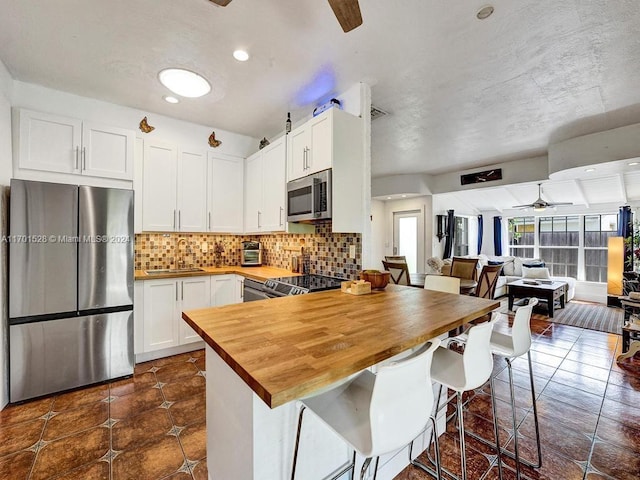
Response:
[[[184,312],[207,343],[210,478],[289,478],[296,399],[498,307],[493,300],[388,285],[370,295],[333,290]],[[299,478],[322,478],[350,456],[313,420],[305,422]],[[400,464],[390,461],[388,468],[381,459],[378,478],[393,478],[408,464],[406,455],[394,458]]]

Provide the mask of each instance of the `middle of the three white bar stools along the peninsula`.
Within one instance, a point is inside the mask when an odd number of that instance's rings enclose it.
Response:
[[[463,392],[473,390],[484,385],[487,380],[491,381],[491,387],[493,390],[493,378],[491,376],[493,370],[493,355],[491,355],[491,350],[489,349],[489,338],[491,337],[491,330],[494,324],[495,319],[490,322],[481,323],[471,327],[467,333],[467,341],[462,354],[449,350],[443,346],[439,347],[433,354],[431,377],[441,385],[436,405],[440,405],[442,386],[450,388],[456,392],[456,415],[458,417],[459,424],[462,480],[466,480],[467,478],[467,455],[464,441],[462,394]],[[448,403],[449,401],[447,400],[443,405],[443,408],[446,408]],[[498,418],[493,397],[491,398],[491,406],[493,408],[493,431],[497,443],[496,451],[498,459],[498,474],[500,480],[502,480],[502,461],[500,459],[500,441],[498,439]],[[413,464],[432,474],[431,469],[417,459]],[[451,477],[457,478],[453,473],[445,469],[442,470]]]

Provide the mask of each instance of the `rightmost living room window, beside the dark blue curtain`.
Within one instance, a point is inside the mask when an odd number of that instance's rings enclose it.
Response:
[[[584,269],[588,282],[607,281],[607,243],[617,235],[617,215],[584,217]]]

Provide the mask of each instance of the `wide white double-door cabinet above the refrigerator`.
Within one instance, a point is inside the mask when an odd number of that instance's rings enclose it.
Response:
[[[133,130],[20,109],[17,169],[133,179]]]

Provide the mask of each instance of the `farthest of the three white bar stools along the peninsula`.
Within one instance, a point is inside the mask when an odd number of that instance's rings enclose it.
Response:
[[[512,457],[516,461],[516,478],[521,478],[520,465],[524,464],[528,467],[539,468],[542,466],[542,449],[540,447],[540,426],[538,424],[538,407],[536,403],[536,390],[533,380],[533,368],[531,363],[531,314],[533,307],[538,304],[537,298],[530,298],[526,305],[523,305],[516,310],[515,317],[513,319],[513,326],[510,333],[491,332],[491,338],[489,340],[489,347],[491,352],[495,355],[504,357],[507,363],[507,371],[509,373],[509,388],[510,388],[510,400],[511,400],[511,420],[513,425],[513,449],[514,454],[507,450],[502,450],[502,453]],[[496,317],[497,318],[497,317]],[[468,335],[462,334],[459,337],[453,339],[453,341],[466,342],[468,341]],[[533,406],[533,422],[536,432],[536,446],[538,459],[537,463],[531,463],[520,458],[520,451],[518,449],[518,423],[516,418],[516,405],[515,405],[515,389],[513,384],[513,369],[512,362],[514,359],[527,354],[529,361],[529,381],[531,384],[531,403]],[[495,395],[493,387],[491,389],[491,396],[495,402]],[[485,439],[471,434],[474,438],[482,441],[487,445],[492,445]]]

